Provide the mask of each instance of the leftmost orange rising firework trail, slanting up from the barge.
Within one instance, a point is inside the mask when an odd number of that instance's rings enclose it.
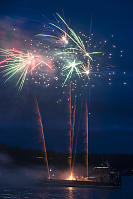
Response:
[[[35,99],[35,105],[36,105],[36,111],[37,111],[37,114],[38,114],[38,117],[39,117],[39,124],[40,124],[41,136],[42,136],[42,139],[43,139],[44,159],[45,159],[47,170],[48,170],[48,177],[50,177],[49,166],[48,166],[47,150],[46,150],[46,143],[45,143],[45,137],[44,137],[44,130],[43,130],[42,118],[41,118],[41,113],[40,113],[40,110],[39,110],[37,99]]]

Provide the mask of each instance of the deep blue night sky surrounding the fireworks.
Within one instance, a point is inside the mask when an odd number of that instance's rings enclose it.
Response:
[[[42,31],[56,12],[70,19],[76,31],[92,32],[97,40],[106,40],[113,34],[118,51],[113,57],[117,74],[109,86],[105,79],[96,80],[90,89],[89,151],[93,153],[133,153],[133,2],[131,0],[94,1],[28,1],[5,0],[0,5],[0,47],[20,47],[23,40]],[[16,33],[13,33],[13,28]],[[12,32],[12,33],[11,33]],[[4,39],[3,39],[4,38]],[[22,42],[21,42],[22,43]],[[115,69],[114,69],[115,70]],[[123,75],[123,72],[126,75]],[[19,93],[13,81],[0,83],[0,142],[24,148],[39,148],[41,137],[34,111],[36,95],[44,123],[49,150],[67,150],[67,103],[57,104],[61,91],[34,87],[26,83]],[[126,82],[126,85],[123,83]],[[80,101],[79,101],[80,104]],[[79,116],[77,116],[79,117]],[[81,129],[82,131],[82,129]],[[83,144],[78,151],[83,151]]]

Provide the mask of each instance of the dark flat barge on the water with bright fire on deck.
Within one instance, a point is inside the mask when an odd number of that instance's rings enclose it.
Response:
[[[118,171],[110,170],[109,167],[95,167],[95,175],[78,177],[70,175],[68,179],[49,178],[42,182],[50,186],[66,187],[111,187],[120,188],[121,176]]]

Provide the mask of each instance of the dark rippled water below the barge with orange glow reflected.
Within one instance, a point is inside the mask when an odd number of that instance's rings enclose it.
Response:
[[[133,199],[133,177],[124,177],[121,189],[41,187],[0,187],[0,199]]]

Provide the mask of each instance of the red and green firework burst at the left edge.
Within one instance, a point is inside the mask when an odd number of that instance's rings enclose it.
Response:
[[[3,76],[6,77],[5,82],[19,74],[19,79],[16,83],[19,86],[19,90],[23,88],[27,74],[32,74],[37,67],[44,64],[52,70],[51,66],[44,62],[40,55],[32,52],[24,53],[15,49],[0,49],[0,57],[4,57],[4,60],[0,62],[0,68],[3,69]]]

